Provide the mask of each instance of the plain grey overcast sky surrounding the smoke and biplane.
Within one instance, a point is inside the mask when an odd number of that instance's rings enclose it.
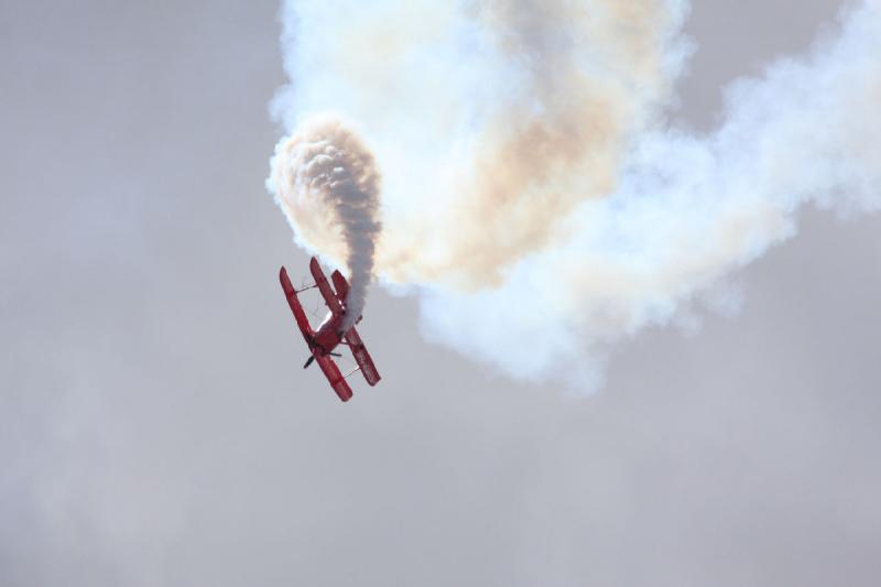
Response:
[[[838,8],[698,0],[676,119]],[[0,0],[0,586],[878,584],[881,218],[806,211],[594,396],[374,290],[341,405],[276,280],[276,10]]]

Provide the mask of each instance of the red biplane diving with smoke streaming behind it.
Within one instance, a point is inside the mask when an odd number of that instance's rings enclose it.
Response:
[[[291,280],[287,278],[287,271],[284,268],[282,268],[279,274],[284,295],[287,297],[287,304],[294,313],[294,318],[296,318],[296,325],[300,327],[300,331],[303,333],[303,338],[306,339],[309,352],[312,352],[312,357],[309,357],[306,365],[303,366],[303,369],[308,368],[312,361],[318,361],[318,367],[324,371],[325,377],[327,377],[327,380],[330,382],[330,387],[334,388],[334,391],[337,392],[340,400],[347,402],[351,399],[351,388],[349,388],[349,384],[346,382],[347,377],[355,371],[361,371],[367,382],[372,387],[379,383],[379,372],[377,372],[377,368],[373,366],[373,359],[371,359],[370,355],[367,352],[367,348],[365,344],[361,343],[361,337],[358,336],[355,326],[342,331],[342,320],[346,316],[346,296],[349,293],[349,283],[346,281],[346,278],[344,278],[342,273],[339,271],[334,271],[334,273],[330,274],[330,279],[334,281],[334,289],[336,290],[334,291],[327,278],[324,276],[318,260],[314,257],[309,262],[309,271],[312,271],[312,276],[315,279],[315,285],[309,285],[302,290],[295,290],[294,286],[291,285]],[[330,308],[330,312],[320,326],[318,326],[317,330],[312,329],[306,313],[303,311],[303,306],[300,304],[300,300],[296,296],[296,294],[314,287],[317,287],[318,291],[322,292],[327,307]],[[355,322],[356,324],[361,322],[361,316],[358,316]],[[340,373],[339,367],[337,367],[337,363],[334,362],[333,359],[334,357],[340,357],[339,354],[334,352],[334,349],[339,345],[349,347],[351,354],[355,356],[355,361],[358,363],[355,370],[345,376]]]

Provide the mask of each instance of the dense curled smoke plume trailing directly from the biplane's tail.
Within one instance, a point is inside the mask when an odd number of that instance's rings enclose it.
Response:
[[[342,329],[363,312],[373,275],[379,174],[361,141],[331,118],[315,118],[279,143],[269,188],[300,241],[349,269]]]

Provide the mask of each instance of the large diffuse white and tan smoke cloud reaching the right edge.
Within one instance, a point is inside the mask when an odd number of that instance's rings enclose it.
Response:
[[[735,305],[725,275],[800,206],[881,205],[878,0],[735,85],[700,137],[665,119],[685,1],[367,4],[286,3],[278,110],[358,121],[385,177],[379,274],[422,296],[429,338],[513,376],[596,387],[611,344]]]

